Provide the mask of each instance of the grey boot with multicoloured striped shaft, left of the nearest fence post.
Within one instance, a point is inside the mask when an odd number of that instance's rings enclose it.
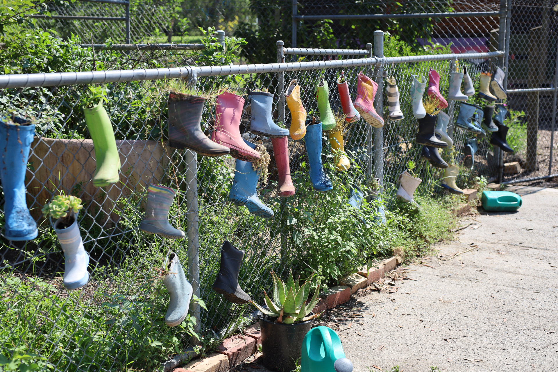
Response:
[[[182,239],[184,231],[169,224],[169,208],[176,191],[162,185],[150,183],[147,189],[147,207],[141,221],[140,230],[148,234],[158,234],[170,239]]]

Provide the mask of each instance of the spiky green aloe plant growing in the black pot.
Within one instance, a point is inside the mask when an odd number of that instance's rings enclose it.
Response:
[[[320,291],[320,286],[316,288],[314,296],[312,296],[312,299],[306,305],[306,299],[310,294],[310,284],[314,274],[306,279],[306,282],[304,282],[302,286],[299,286],[300,277],[296,281],[292,277],[292,270],[289,273],[286,284],[278,278],[273,271],[271,272],[271,276],[273,277],[273,301],[271,301],[265,291],[263,292],[268,308],[263,308],[256,302],[251,301],[259,311],[268,317],[277,317],[277,320],[275,321],[276,323],[285,324],[305,322],[320,316],[319,313],[309,316],[314,306],[318,304],[318,292]]]

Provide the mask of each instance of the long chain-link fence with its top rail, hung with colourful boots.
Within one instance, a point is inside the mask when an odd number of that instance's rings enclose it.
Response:
[[[26,178],[27,204],[38,221],[39,238],[3,242],[0,275],[5,308],[1,321],[2,328],[13,330],[13,334],[3,334],[2,342],[10,345],[6,347],[15,348],[11,350],[20,347],[38,355],[37,358],[44,357],[53,370],[157,367],[166,355],[180,352],[190,340],[187,330],[169,328],[163,322],[168,295],[161,292],[157,279],[169,252],[176,252],[188,268],[194,293],[207,304],[208,310],[192,308],[193,316],[201,320],[198,327],[216,339],[226,336],[242,322],[249,321],[253,309],[249,305],[233,305],[211,291],[219,270],[223,241],[228,239],[235,247],[246,250],[239,282],[261,302],[262,292],[270,284],[270,270],[285,276],[290,268],[303,273],[316,269],[305,267],[309,263],[302,258],[310,240],[301,235],[296,219],[302,224],[306,216],[317,223],[328,214],[349,208],[347,201],[353,187],[364,187],[367,177],[382,172],[384,199],[391,200],[397,177],[410,160],[417,163],[415,172],[424,180],[419,191],[436,191],[441,173],[420,160],[421,147],[413,141],[416,120],[408,95],[411,74],[427,76],[430,68],[436,69],[444,77],[441,90],[446,95],[448,74],[457,58],[461,64],[470,66],[470,74],[476,79],[479,71],[497,64],[498,56],[498,53],[392,59],[355,56],[347,60],[275,65],[2,76],[0,84],[9,88],[4,90],[4,95],[9,97],[4,111],[27,107],[35,110],[33,114],[37,117],[49,118],[44,125],[36,127]],[[396,77],[405,119],[386,120],[381,130],[372,130],[363,120],[353,123],[345,133],[345,151],[352,162],[347,172],[334,170],[335,156],[324,137],[324,165],[334,184],[334,190],[329,193],[312,191],[304,142],[290,140],[291,175],[297,194],[288,199],[277,197],[271,141],[249,134],[250,107],[244,107],[241,132],[252,142],[266,146],[272,155],[268,185],[260,184],[258,195],[275,211],[273,219],[258,218],[228,200],[234,177],[232,158],[201,157],[167,146],[167,94],[161,80],[157,80],[163,76],[191,78],[196,73],[200,90],[219,86],[243,94],[248,89],[265,88],[275,94],[274,119],[280,121],[281,115],[285,115],[288,122],[288,110],[284,103],[279,104],[283,102],[285,81],[299,81],[306,110],[310,115],[318,115],[313,92],[320,76],[330,85],[330,102],[337,112],[340,105],[335,81],[341,71],[354,96],[358,72],[375,76],[381,69]],[[381,83],[381,78],[377,80]],[[82,83],[102,82],[108,83],[110,89],[107,110],[115,129],[122,168],[119,182],[96,188],[90,182],[95,170],[94,147],[92,140],[86,139],[89,135],[79,97],[87,89]],[[377,107],[387,117],[387,102],[382,95],[383,90],[379,90]],[[451,108],[449,114],[452,115]],[[215,120],[214,109],[207,105],[202,120],[206,133],[210,133]],[[377,148],[374,143],[378,144],[380,134],[383,143],[380,141],[381,148]],[[453,136],[457,149],[455,160],[460,161],[463,157],[460,146],[466,134],[455,129]],[[491,151],[487,144],[480,145],[478,162],[482,166],[490,167]],[[382,163],[383,167],[378,168]],[[160,238],[138,229],[149,183],[178,190],[169,220],[185,231],[187,239]],[[64,256],[50,225],[40,214],[45,201],[61,191],[79,196],[85,205],[79,225],[85,250],[90,255],[90,281],[78,291],[66,291],[62,286]],[[331,197],[338,198],[339,203],[332,205],[328,202]],[[316,210],[316,206],[322,207]],[[375,213],[366,210],[362,216],[370,219]],[[358,219],[354,223],[359,231],[368,231],[365,223],[361,225]],[[353,264],[364,264],[365,256],[372,254],[372,250],[382,252],[381,245],[364,247],[368,253]],[[163,349],[159,345],[171,347]],[[37,363],[42,362],[37,360]]]

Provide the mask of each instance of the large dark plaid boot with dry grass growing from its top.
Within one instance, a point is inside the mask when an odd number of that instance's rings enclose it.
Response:
[[[201,114],[205,103],[215,100],[215,93],[203,93],[191,89],[182,80],[167,83],[169,91],[169,146],[190,149],[203,156],[222,156],[230,149],[211,141],[201,130]]]

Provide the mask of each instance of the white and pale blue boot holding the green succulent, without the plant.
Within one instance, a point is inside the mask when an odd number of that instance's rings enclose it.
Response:
[[[64,288],[78,289],[89,281],[89,254],[83,248],[83,240],[78,226],[78,214],[74,215],[74,223],[65,229],[57,229],[60,219],[50,224],[64,252]]]

